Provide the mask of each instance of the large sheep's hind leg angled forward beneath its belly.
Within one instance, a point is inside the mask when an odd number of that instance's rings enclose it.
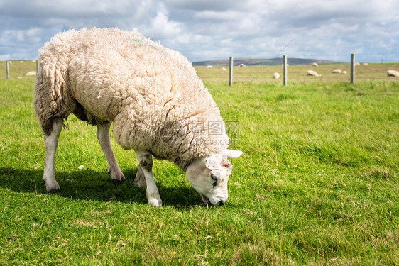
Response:
[[[102,151],[105,155],[106,162],[108,162],[108,173],[111,174],[112,182],[114,184],[119,184],[124,182],[126,179],[124,174],[119,168],[118,162],[114,155],[114,150],[112,150],[111,139],[109,138],[109,128],[111,123],[106,123],[104,125],[97,125],[97,139],[99,140]]]

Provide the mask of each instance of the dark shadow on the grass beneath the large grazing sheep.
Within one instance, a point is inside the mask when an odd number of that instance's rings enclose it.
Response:
[[[118,185],[114,185],[111,182],[111,176],[105,172],[93,170],[55,172],[55,177],[61,187],[61,191],[56,194],[76,200],[147,204],[146,189],[137,187],[134,184],[136,172],[137,168],[125,170],[126,181]],[[15,192],[47,194],[42,177],[43,170],[0,167],[0,187],[11,189]],[[180,208],[202,205],[200,195],[192,187],[187,187],[185,184],[166,187],[160,182],[157,186],[164,206]]]

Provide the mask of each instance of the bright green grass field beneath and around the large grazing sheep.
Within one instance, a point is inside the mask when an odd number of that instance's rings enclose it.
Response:
[[[127,178],[115,186],[96,128],[73,115],[55,159],[62,192],[45,192],[34,78],[16,65],[9,80],[0,69],[0,265],[399,264],[399,82],[386,70],[349,84],[303,82],[306,66],[293,66],[283,87],[266,74],[248,83],[260,69],[244,67],[228,87],[198,69],[225,121],[238,121],[231,148],[244,155],[217,208],[155,161],[155,209],[133,184],[133,151],[113,141]]]

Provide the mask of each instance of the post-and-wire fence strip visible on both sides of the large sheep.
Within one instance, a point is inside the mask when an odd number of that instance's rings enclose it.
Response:
[[[351,82],[351,74],[353,74],[353,82],[361,80],[399,81],[399,78],[394,75],[388,76],[388,71],[399,72],[399,63],[362,62],[356,55],[353,72],[350,63],[351,55],[348,55],[348,58],[348,62],[332,62],[330,60],[287,57],[285,67],[281,57],[270,60],[240,58],[233,60],[231,58],[230,71],[230,60],[226,58],[226,60],[206,61],[202,66],[195,65],[195,69],[204,82],[226,82],[230,85],[234,85],[234,82],[282,82],[288,85],[292,82]],[[35,76],[38,67],[37,60],[3,61],[0,62],[0,79],[31,78]],[[309,72],[316,72],[317,75],[312,75]]]

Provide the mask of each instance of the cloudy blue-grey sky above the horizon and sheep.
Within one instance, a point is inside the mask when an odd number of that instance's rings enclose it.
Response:
[[[399,62],[398,0],[0,0],[0,60],[60,31],[137,28],[192,62],[288,57]]]

